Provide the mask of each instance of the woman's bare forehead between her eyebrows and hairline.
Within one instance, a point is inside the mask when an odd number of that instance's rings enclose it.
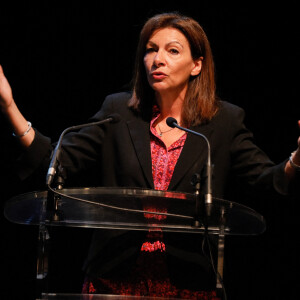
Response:
[[[179,42],[180,44],[189,45],[189,42],[185,35],[178,29],[172,27],[166,27],[162,29],[155,30],[150,36],[148,42],[155,44],[158,43],[170,43],[170,42]]]

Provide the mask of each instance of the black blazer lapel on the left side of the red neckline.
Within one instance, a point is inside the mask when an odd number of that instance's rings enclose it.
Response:
[[[130,120],[127,122],[127,126],[141,168],[151,188],[154,189],[152,177],[149,122],[141,121],[138,119]]]

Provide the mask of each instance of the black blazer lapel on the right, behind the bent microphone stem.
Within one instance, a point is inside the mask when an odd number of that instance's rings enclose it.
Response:
[[[209,139],[212,128],[209,125],[203,125],[191,128],[191,130],[199,132]],[[175,166],[169,189],[172,190],[197,161],[203,160],[203,162],[206,163],[206,159],[207,143],[204,138],[188,133],[182,152]],[[199,170],[199,172],[200,171],[201,170]]]

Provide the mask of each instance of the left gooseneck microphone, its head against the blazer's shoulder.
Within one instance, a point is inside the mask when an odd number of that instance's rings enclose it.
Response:
[[[49,169],[47,172],[47,176],[46,176],[46,185],[51,185],[54,176],[56,174],[56,169],[57,169],[57,165],[58,165],[58,157],[60,155],[60,151],[61,151],[61,143],[63,140],[64,135],[67,132],[73,131],[73,130],[77,130],[77,129],[81,129],[84,127],[89,127],[89,126],[94,126],[94,125],[100,125],[100,124],[104,124],[104,123],[117,123],[121,120],[121,117],[119,114],[111,114],[109,115],[106,119],[103,119],[101,121],[95,121],[95,122],[91,122],[91,123],[85,123],[85,124],[81,124],[81,125],[75,125],[75,126],[71,126],[66,128],[60,135],[59,140],[56,144],[56,147],[54,149],[53,155],[52,155],[52,159],[49,165]]]

